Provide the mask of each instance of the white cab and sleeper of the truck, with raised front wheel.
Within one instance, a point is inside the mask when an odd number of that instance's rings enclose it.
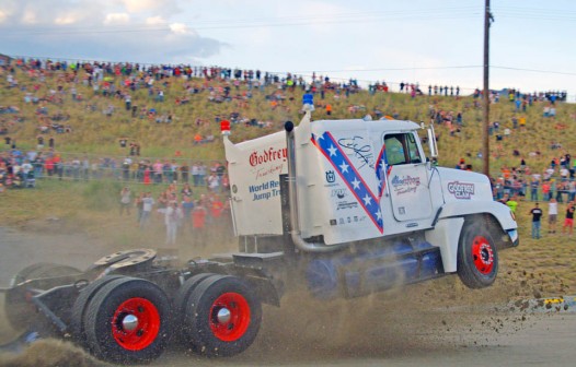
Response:
[[[486,176],[436,167],[400,120],[311,120],[233,144],[224,133],[232,213],[244,251],[287,247],[310,291],[350,297],[458,273],[491,285],[499,249],[518,245]],[[429,151],[437,155],[434,127]],[[281,242],[284,247],[280,246]]]

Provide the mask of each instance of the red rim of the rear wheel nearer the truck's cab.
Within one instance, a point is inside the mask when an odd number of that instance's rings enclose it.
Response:
[[[244,335],[250,325],[250,306],[238,293],[224,293],[210,308],[210,329],[223,342],[233,342]]]

